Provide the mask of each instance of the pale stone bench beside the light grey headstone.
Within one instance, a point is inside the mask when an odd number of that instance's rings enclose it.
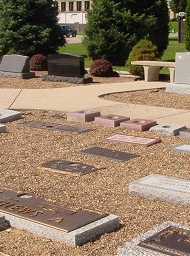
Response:
[[[153,60],[137,60],[132,65],[142,65],[145,71],[145,81],[158,81],[159,70],[162,66],[169,68],[170,82],[174,82],[175,62],[161,62]]]

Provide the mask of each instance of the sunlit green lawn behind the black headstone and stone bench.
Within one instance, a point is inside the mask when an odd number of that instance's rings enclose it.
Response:
[[[185,49],[185,44],[179,44],[177,38],[170,38],[169,39],[169,45],[167,50],[165,50],[162,60],[163,61],[175,61],[175,53],[176,52],[187,52]],[[92,60],[90,60],[87,57],[86,48],[83,46],[82,43],[77,44],[67,44],[65,47],[61,47],[59,49],[59,53],[72,53],[77,55],[83,55],[85,57],[85,67],[89,68]],[[121,71],[127,71],[127,68],[125,66],[113,66],[114,70],[121,70]],[[163,74],[169,74],[168,68],[163,68],[161,70],[161,73]]]

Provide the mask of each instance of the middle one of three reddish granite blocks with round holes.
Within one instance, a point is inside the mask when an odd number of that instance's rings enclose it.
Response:
[[[109,114],[105,116],[95,117],[95,123],[101,126],[115,127],[119,126],[121,122],[127,121],[129,119],[130,117]]]

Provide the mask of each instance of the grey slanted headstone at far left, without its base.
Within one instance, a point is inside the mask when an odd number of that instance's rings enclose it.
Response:
[[[29,73],[30,58],[18,54],[4,55],[1,60],[0,71]]]

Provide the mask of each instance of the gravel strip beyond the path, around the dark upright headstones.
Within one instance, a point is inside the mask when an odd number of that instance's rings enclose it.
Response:
[[[70,86],[81,86],[77,84],[70,84],[67,82],[48,82],[42,81],[41,76],[47,74],[47,71],[35,71],[36,78],[32,79],[19,79],[19,78],[6,78],[0,76],[0,88],[18,88],[18,89],[47,89],[47,88],[61,88],[61,87],[70,87]],[[90,76],[86,74],[86,76]],[[110,77],[110,78],[99,78],[93,77],[92,84],[109,84],[114,82],[131,82],[134,81],[133,78],[127,77]],[[92,85],[87,84],[87,85]],[[84,86],[87,86],[84,85]]]

